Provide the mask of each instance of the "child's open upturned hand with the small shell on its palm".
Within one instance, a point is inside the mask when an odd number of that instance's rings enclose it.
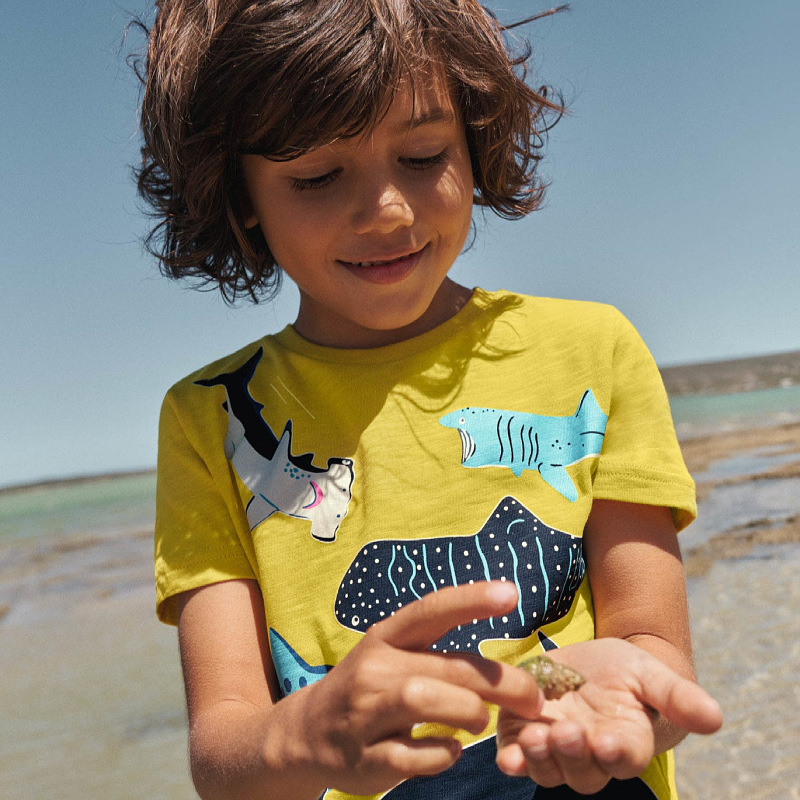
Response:
[[[644,771],[656,753],[657,725],[671,723],[679,741],[683,732],[710,734],[722,724],[717,702],[700,686],[630,642],[595,639],[547,655],[586,683],[546,702],[535,720],[500,709],[497,764],[507,775],[591,794],[611,778]]]

